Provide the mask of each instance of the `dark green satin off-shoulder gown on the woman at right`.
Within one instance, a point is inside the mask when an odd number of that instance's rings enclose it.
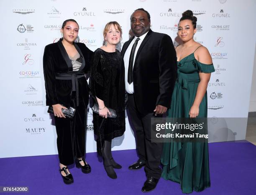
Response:
[[[189,117],[200,81],[199,72],[214,72],[214,67],[197,61],[194,53],[177,63],[178,77],[168,117]],[[207,93],[198,117],[207,117]],[[162,178],[180,183],[182,193],[200,192],[210,187],[208,143],[164,143],[161,163]]]

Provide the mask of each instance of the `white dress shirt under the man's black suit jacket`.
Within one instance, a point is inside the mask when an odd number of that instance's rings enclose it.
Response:
[[[129,59],[130,59],[131,49],[133,47],[135,40],[137,38],[140,38],[140,40],[138,41],[137,47],[135,49],[135,53],[134,53],[134,59],[133,59],[133,65],[134,65],[135,58],[136,58],[136,55],[138,52],[138,48],[141,46],[141,42],[143,41],[143,39],[146,37],[147,34],[148,34],[148,32],[141,35],[140,37],[135,36],[134,39],[131,41],[130,45],[128,46],[127,50],[125,51],[125,55],[123,57],[123,61],[124,61],[124,65],[125,65],[125,90],[128,93],[133,93],[133,82],[131,82],[131,84],[128,83],[128,67],[129,67]]]

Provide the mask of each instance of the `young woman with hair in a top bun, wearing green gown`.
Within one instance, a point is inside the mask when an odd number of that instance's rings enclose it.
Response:
[[[197,18],[191,10],[179,20],[176,47],[178,77],[168,117],[207,118],[207,85],[214,72],[207,48],[195,42]],[[182,193],[199,192],[210,187],[208,143],[164,143],[161,163],[162,177],[180,183]]]

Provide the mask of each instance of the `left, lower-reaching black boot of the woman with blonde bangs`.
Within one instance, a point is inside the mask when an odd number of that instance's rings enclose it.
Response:
[[[103,153],[102,153],[103,165],[108,174],[108,177],[110,177],[111,179],[116,179],[117,175],[113,169],[113,165],[109,158],[110,153],[111,153],[111,141],[105,140],[104,146],[103,146]]]

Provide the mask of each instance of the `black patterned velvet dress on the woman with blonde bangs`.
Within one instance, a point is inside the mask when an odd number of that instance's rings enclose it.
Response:
[[[106,107],[116,110],[117,113],[116,118],[107,118],[103,122],[102,117],[93,113],[94,133],[97,135],[97,151],[99,154],[101,154],[104,140],[119,137],[125,131],[125,83],[122,60],[118,50],[116,52],[105,52],[98,48],[94,52],[90,90],[94,96],[104,101]],[[101,123],[102,127],[100,128]]]

